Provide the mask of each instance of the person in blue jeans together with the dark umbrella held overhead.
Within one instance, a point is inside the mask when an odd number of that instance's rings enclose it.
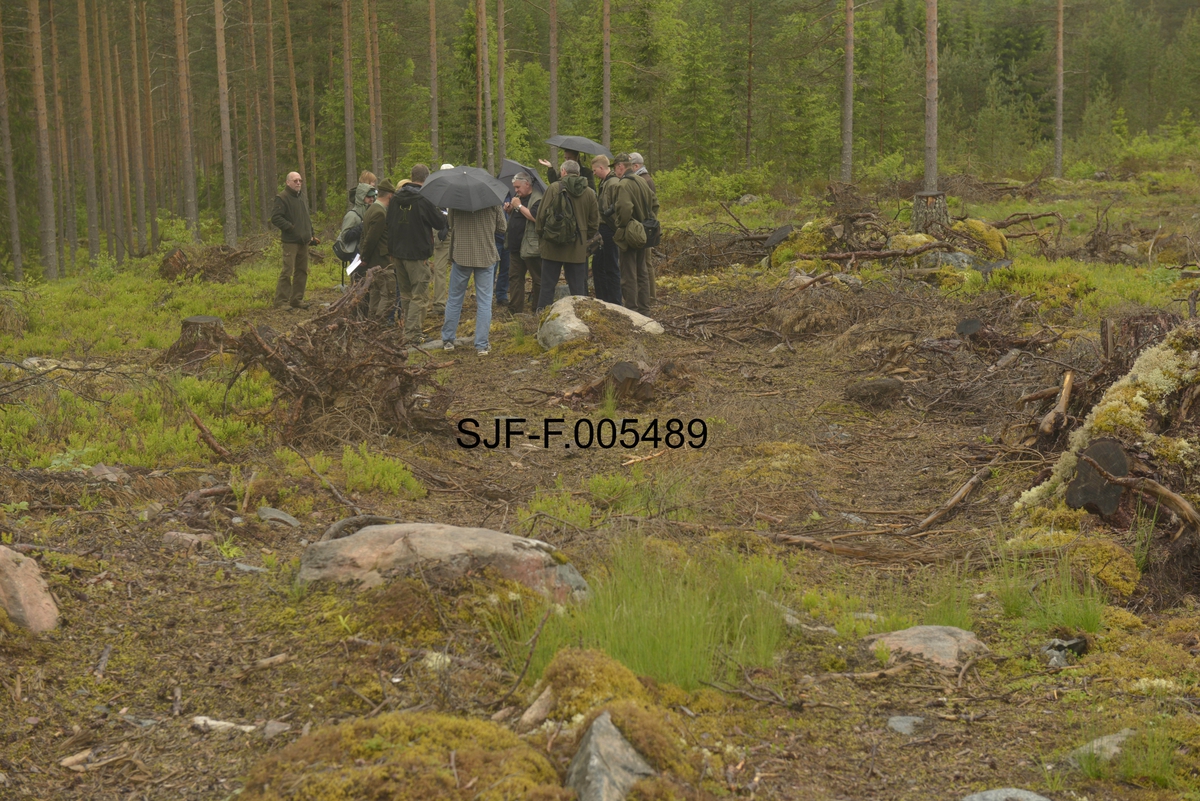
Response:
[[[508,230],[500,206],[509,187],[476,167],[455,167],[431,175],[421,194],[436,206],[450,210],[450,285],[442,347],[455,349],[467,284],[475,281],[475,353],[491,353],[492,283],[500,260],[496,235]]]

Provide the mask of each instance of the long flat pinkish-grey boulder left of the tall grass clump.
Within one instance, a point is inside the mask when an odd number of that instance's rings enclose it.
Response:
[[[588,592],[578,571],[545,542],[438,523],[368,525],[341,540],[314,542],[300,560],[299,577],[378,586],[419,562],[450,578],[491,568],[558,602]]]

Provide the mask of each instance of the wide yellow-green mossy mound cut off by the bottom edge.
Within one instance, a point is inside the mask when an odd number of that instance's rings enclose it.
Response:
[[[259,761],[239,797],[566,801],[575,795],[559,787],[545,755],[505,728],[448,715],[391,713],[301,737]]]

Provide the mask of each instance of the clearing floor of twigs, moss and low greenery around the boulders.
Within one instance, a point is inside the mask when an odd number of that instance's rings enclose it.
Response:
[[[613,411],[602,398],[565,399],[571,387],[619,360],[673,362],[653,399],[618,402],[614,416],[637,417],[643,428],[656,418],[664,430],[670,418],[704,421],[698,448],[468,450],[451,424],[380,434],[366,422],[286,447],[284,408],[264,372],[251,369],[227,393],[236,372],[229,354],[191,373],[155,361],[184,317],[217,314],[233,335],[264,324],[287,331],[341,296],[326,263],[313,270],[312,309],[270,309],[277,245],[263,245],[230,283],[167,282],[155,260],[4,295],[0,534],[37,559],[61,622],[42,636],[0,628],[0,797],[229,799],[256,763],[310,728],[389,710],[492,718],[530,643],[529,626],[496,612],[505,585],[487,576],[416,577],[371,591],[304,585],[295,573],[305,546],[350,514],[341,495],[402,520],[540,538],[593,585],[611,574],[613,548],[630,541],[655,543],[647,553],[678,564],[772,565],[772,601],[799,619],[772,658],[718,660],[696,687],[643,676],[695,758],[688,797],[959,799],[1018,787],[1054,801],[1200,799],[1200,576],[1176,572],[1169,584],[1147,566],[1124,595],[1094,583],[1068,590],[1055,601],[1094,604],[1099,615],[1096,625],[1074,625],[1042,608],[1060,572],[1073,583],[1061,554],[1014,573],[1004,546],[1026,525],[1014,501],[1066,446],[1066,434],[1040,450],[1019,446],[1022,427],[1054,397],[1019,398],[1057,385],[1063,366],[1094,372],[1102,317],[1129,314],[1132,301],[1186,315],[1180,299],[1200,287],[1150,254],[1145,264],[1098,264],[1046,248],[1081,247],[1105,207],[1108,230],[1124,233],[1135,253],[1148,239],[1139,231],[1198,242],[1200,179],[1184,170],[1043,186],[1027,199],[1015,188],[996,194],[1004,197],[965,211],[990,221],[1058,211],[1063,229],[1043,234],[1042,246],[1014,239],[1013,269],[986,285],[934,285],[869,267],[862,289],[818,287],[809,290],[814,300],[788,307],[778,290],[786,265],[682,272],[668,261],[656,309],[666,335],[606,332],[544,353],[535,321],[517,318],[496,321],[486,361],[469,349],[409,357],[427,368],[430,393],[449,393],[450,420],[516,416],[540,426],[557,416],[568,430]],[[961,210],[952,201],[952,213]],[[828,213],[820,200],[790,198],[732,211],[748,229]],[[665,221],[709,233],[733,222],[707,203]],[[708,321],[692,324],[704,312]],[[997,342],[1046,331],[1055,342],[997,369],[1007,344],[938,347],[968,318],[990,325]],[[61,367],[18,367],[28,357]],[[905,381],[902,401],[871,408],[846,399],[851,384],[887,374]],[[1081,391],[1072,420],[1103,389]],[[197,441],[187,409],[230,458]],[[397,493],[353,489],[356,453],[391,459],[383,472],[403,472],[402,463],[415,483]],[[100,463],[124,477],[96,477]],[[952,514],[895,536],[989,464]],[[185,500],[220,484],[232,494]],[[290,512],[300,528],[260,520],[260,505]],[[1150,562],[1170,558],[1170,531],[1152,522],[1145,535],[1140,511],[1114,519],[1082,526],[1108,526],[1129,552],[1146,548]],[[164,544],[168,531],[216,543],[179,550]],[[826,550],[804,547],[812,542]],[[1014,602],[1014,591],[1032,606]],[[536,621],[536,601],[521,603]],[[863,640],[923,622],[971,628],[990,652],[944,670]],[[1076,634],[1088,652],[1048,667],[1043,646]],[[536,695],[550,656],[539,656],[508,703],[517,713]],[[896,669],[877,675],[882,668]],[[924,724],[899,734],[886,727],[896,715]],[[196,716],[258,728],[205,733]],[[268,722],[290,728],[268,739]],[[559,773],[578,734],[570,723],[526,736]],[[1111,765],[1067,759],[1124,728],[1136,734]],[[62,765],[76,754],[84,755]],[[445,760],[455,770],[452,752]],[[467,788],[446,795],[510,797],[503,788]]]

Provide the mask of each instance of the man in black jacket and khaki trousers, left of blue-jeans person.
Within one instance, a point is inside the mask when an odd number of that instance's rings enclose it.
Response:
[[[433,231],[446,229],[446,218],[421,194],[430,168],[414,164],[410,181],[401,187],[388,206],[388,247],[391,266],[400,287],[400,311],[404,319],[404,338],[425,342],[425,309],[430,302],[430,257],[433,255]]]

